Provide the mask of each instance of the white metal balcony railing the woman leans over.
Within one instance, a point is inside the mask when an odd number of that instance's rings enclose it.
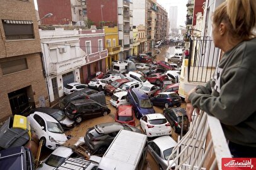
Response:
[[[167,169],[173,164],[175,170],[221,169],[222,157],[231,157],[231,154],[219,120],[202,111],[200,115],[194,112],[189,131],[168,158]]]

